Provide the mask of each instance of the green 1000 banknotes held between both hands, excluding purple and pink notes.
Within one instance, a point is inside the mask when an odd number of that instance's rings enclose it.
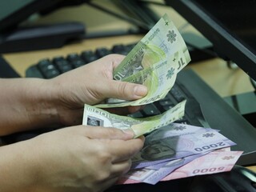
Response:
[[[178,72],[188,62],[190,54],[182,35],[165,14],[113,72],[115,80],[147,86],[148,94],[136,101],[109,98],[104,104],[85,105],[82,124],[131,129],[137,138],[182,118],[186,101],[164,114],[140,119],[110,114],[99,108],[146,105],[165,98]]]

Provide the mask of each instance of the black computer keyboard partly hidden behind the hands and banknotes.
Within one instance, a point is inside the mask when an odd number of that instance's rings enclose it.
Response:
[[[98,58],[102,58],[107,54],[126,55],[135,45],[136,43],[129,45],[118,44],[114,45],[111,49],[102,47],[94,51],[84,50],[80,54],[68,54],[66,57],[54,57],[51,59],[44,58],[26,70],[26,77],[54,78],[59,74],[66,73],[69,70],[73,70],[79,66],[86,65],[86,63],[93,62]],[[130,116],[134,118],[142,118],[162,114],[166,110],[169,110],[172,106],[175,106],[178,102],[182,102],[184,99],[187,100],[186,115],[184,118],[178,120],[178,122],[187,123],[194,126],[209,127],[203,118],[199,103],[189,92],[187,92],[186,89],[182,88],[182,85],[179,84],[178,80],[175,82],[170,92],[166,95],[166,98],[163,98],[158,102],[148,104],[143,108],[143,110],[130,114]]]

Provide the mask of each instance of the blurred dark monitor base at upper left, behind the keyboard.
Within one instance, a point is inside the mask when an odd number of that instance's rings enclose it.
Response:
[[[0,34],[0,53],[61,47],[66,42],[84,38],[85,31],[79,22],[20,27]]]

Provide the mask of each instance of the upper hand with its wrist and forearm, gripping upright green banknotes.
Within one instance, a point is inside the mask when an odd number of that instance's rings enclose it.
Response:
[[[147,93],[146,86],[113,80],[113,70],[123,58],[108,55],[52,79],[1,79],[0,136],[82,124],[84,103],[94,105],[106,98],[142,98]],[[110,112],[128,114],[139,109],[140,106],[130,106]]]

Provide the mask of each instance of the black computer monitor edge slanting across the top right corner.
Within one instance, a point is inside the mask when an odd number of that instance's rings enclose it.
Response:
[[[221,58],[256,80],[256,1],[166,0],[166,4],[209,39]]]

